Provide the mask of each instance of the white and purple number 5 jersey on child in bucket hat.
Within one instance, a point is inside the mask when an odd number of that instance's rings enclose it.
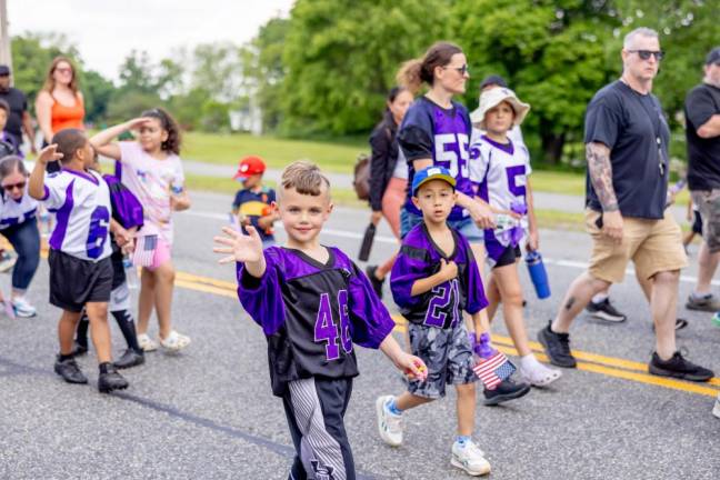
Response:
[[[513,203],[527,204],[526,186],[532,169],[524,144],[510,141],[504,147],[478,138],[470,146],[470,180],[478,188],[478,197],[494,208],[511,210]]]

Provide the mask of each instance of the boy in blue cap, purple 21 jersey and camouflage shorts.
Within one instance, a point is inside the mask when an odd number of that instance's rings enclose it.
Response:
[[[488,301],[468,240],[448,227],[456,203],[456,180],[438,166],[412,179],[412,202],[422,211],[422,223],[408,232],[390,276],[390,289],[408,320],[412,354],[428,368],[426,379],[410,379],[400,397],[376,401],[378,430],[390,446],[402,443],[403,411],[444,397],[446,386],[458,392],[458,436],[451,463],[472,476],[490,472],[484,453],[472,441],[477,377],[472,344],[462,310],[479,322]]]

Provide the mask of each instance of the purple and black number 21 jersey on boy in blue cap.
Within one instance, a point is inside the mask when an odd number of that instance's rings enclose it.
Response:
[[[456,247],[450,256],[441,253],[424,223],[410,230],[402,240],[390,273],[390,289],[400,312],[412,323],[451,328],[462,321],[461,310],[472,314],[488,306],[470,244],[456,230],[452,234]],[[413,297],[412,284],[437,273],[442,258],[457,263],[458,277]]]

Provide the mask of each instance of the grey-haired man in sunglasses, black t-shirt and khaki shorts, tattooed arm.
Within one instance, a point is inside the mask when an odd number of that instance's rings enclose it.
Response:
[[[621,282],[632,260],[638,276],[651,283],[656,351],[650,373],[708,381],[713,373],[686,360],[676,347],[678,282],[688,260],[680,227],[666,212],[670,129],[651,93],[661,59],[656,31],[631,31],[623,42],[620,80],[600,89],[588,106],[586,226],[592,258],[538,337],[552,363],[574,368],[572,320],[593,294]]]

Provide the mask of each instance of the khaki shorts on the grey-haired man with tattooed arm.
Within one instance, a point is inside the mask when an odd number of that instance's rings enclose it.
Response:
[[[623,218],[622,242],[614,243],[601,233],[596,221],[600,212],[586,209],[586,230],[592,237],[592,258],[589,272],[610,283],[624,279],[628,262],[632,260],[641,278],[658,272],[680,270],[688,266],[682,248],[682,232],[669,211],[661,220]]]

